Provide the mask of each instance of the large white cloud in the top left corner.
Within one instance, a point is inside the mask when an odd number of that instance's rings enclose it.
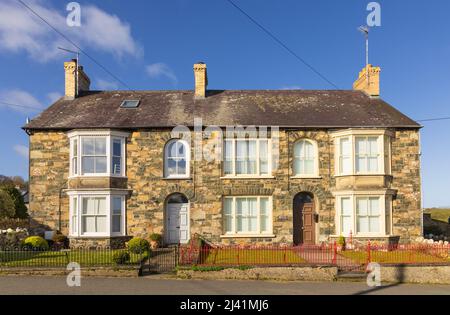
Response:
[[[92,5],[81,6],[81,27],[69,27],[65,10],[50,7],[48,1],[27,3],[56,29],[79,44],[121,58],[139,57],[142,47],[133,39],[130,25],[119,17]],[[65,8],[64,8],[65,9]],[[16,1],[0,2],[0,50],[25,51],[40,62],[64,56],[58,46],[76,49]]]

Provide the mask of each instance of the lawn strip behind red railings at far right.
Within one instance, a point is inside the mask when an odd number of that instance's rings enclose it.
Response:
[[[367,262],[367,252],[361,251],[344,251],[339,252],[339,255],[352,259],[358,264]],[[401,264],[401,263],[448,263],[447,258],[440,258],[426,253],[417,251],[389,251],[381,252],[374,251],[371,253],[371,261],[380,264]]]

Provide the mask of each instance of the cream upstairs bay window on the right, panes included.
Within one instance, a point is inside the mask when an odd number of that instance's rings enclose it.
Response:
[[[332,135],[337,176],[390,174],[390,132],[345,130]]]

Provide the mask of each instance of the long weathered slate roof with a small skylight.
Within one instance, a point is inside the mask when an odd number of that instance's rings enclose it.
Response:
[[[123,100],[140,100],[121,108]],[[351,90],[213,90],[204,99],[193,91],[90,91],[61,98],[30,121],[26,130],[75,128],[163,128],[242,125],[286,128],[421,126],[380,98]]]

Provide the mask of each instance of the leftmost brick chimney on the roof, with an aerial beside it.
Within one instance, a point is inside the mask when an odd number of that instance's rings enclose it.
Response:
[[[76,69],[78,68],[78,78]],[[82,66],[77,67],[77,60],[64,62],[65,72],[65,98],[74,99],[81,91],[89,91],[91,80],[83,71]]]

